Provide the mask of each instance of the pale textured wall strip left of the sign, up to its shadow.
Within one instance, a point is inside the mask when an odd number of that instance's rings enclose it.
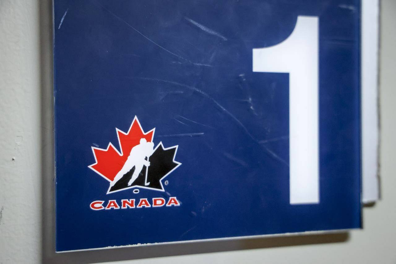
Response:
[[[0,262],[41,258],[38,1],[0,1]]]

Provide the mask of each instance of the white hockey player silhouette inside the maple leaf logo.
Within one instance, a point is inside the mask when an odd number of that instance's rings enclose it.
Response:
[[[140,144],[136,145],[131,149],[128,159],[124,163],[124,166],[122,166],[122,169],[117,173],[114,180],[110,183],[110,187],[114,186],[114,184],[116,184],[116,182],[118,182],[118,180],[120,180],[122,176],[124,176],[127,172],[129,172],[129,170],[133,168],[133,166],[135,166],[135,171],[132,174],[132,178],[128,182],[128,186],[131,186],[139,176],[140,172],[143,169],[143,166],[150,166],[148,158],[152,155],[153,152],[154,143],[147,142],[145,138],[141,138]]]

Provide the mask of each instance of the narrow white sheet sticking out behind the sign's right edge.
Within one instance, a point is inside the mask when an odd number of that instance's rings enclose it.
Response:
[[[379,0],[362,0],[362,201],[379,199]]]

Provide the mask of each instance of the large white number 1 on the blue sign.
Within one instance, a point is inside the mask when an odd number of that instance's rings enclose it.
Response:
[[[318,24],[299,16],[284,42],[253,49],[253,72],[289,73],[290,204],[319,203]]]

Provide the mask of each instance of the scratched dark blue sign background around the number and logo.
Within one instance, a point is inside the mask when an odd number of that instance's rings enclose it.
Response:
[[[289,76],[252,72],[297,15],[320,19],[318,205],[289,205]],[[57,251],[359,228],[359,32],[357,0],[54,0]],[[182,165],[168,193],[107,195],[91,146],[135,115]],[[180,207],[89,208],[169,194]]]

